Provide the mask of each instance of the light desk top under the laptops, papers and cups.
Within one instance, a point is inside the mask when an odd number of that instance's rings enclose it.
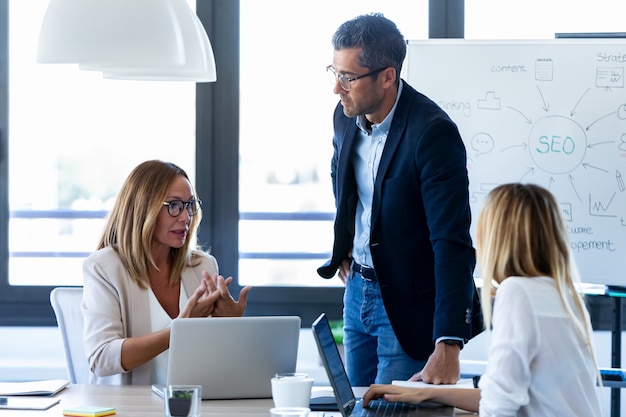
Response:
[[[70,385],[57,396],[61,402],[48,410],[0,410],[0,417],[62,417],[64,408],[80,405],[115,407],[117,410],[115,417],[158,417],[163,415],[163,400],[152,392],[150,386]],[[202,417],[268,417],[269,409],[272,406],[271,399],[205,400],[202,401]],[[451,407],[425,409],[423,413],[424,417],[468,415],[466,412],[455,411]],[[340,416],[340,414],[311,413],[311,417],[329,416]]]

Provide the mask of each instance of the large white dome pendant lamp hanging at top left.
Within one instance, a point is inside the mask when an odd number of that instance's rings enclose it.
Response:
[[[185,0],[50,0],[37,61],[115,79],[217,79],[209,38]]]

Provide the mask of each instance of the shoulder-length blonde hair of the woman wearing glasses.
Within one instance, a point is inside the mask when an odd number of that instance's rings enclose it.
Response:
[[[182,168],[170,162],[152,160],[135,167],[122,185],[98,243],[98,249],[111,246],[117,251],[130,277],[142,288],[150,287],[150,268],[157,268],[152,257],[157,218],[170,186],[180,176],[189,180]],[[187,265],[199,262],[196,244],[201,217],[198,210],[183,246],[170,250],[171,283],[180,280]]]

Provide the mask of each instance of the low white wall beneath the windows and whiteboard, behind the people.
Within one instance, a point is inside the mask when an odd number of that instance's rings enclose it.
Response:
[[[622,334],[622,366],[626,368],[626,346]],[[56,327],[0,327],[0,381],[65,379],[65,356],[61,335]],[[594,332],[598,365],[611,366],[611,333]],[[480,335],[461,352],[461,372],[480,373],[487,357],[488,340]],[[315,385],[328,385],[310,329],[300,333],[298,372],[308,373]],[[599,388],[604,415],[610,415],[610,389]],[[621,413],[626,416],[626,390],[622,394]]]

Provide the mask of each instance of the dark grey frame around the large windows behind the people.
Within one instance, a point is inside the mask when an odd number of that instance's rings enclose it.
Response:
[[[464,0],[430,0],[429,37],[462,38],[463,9]],[[238,0],[196,5],[219,78],[196,85],[196,189],[205,202],[199,240],[210,247],[220,270],[233,277],[239,262],[239,12]],[[0,326],[55,326],[49,300],[54,287],[11,286],[8,280],[8,19],[9,0],[0,0]],[[240,288],[233,283],[234,294]],[[342,297],[340,287],[256,287],[247,314],[298,315],[308,327],[321,312],[341,318]]]

